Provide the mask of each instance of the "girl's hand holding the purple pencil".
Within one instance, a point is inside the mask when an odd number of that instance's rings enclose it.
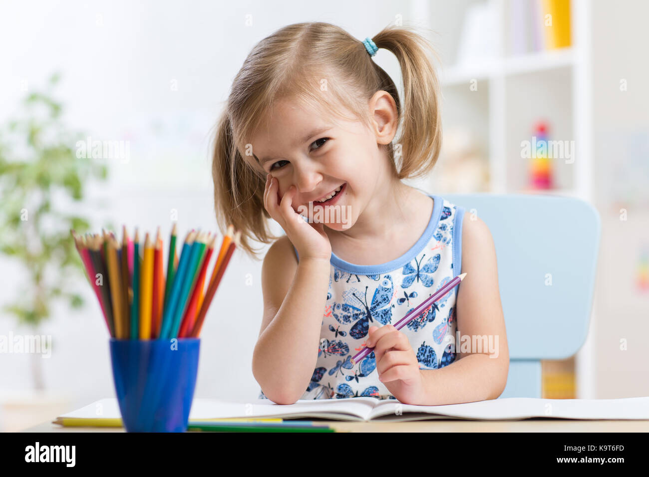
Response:
[[[379,380],[404,404],[425,402],[424,376],[408,337],[391,324],[368,332],[365,346],[374,348]]]

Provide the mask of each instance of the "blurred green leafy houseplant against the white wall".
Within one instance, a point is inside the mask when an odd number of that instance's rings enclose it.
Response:
[[[88,230],[88,219],[73,210],[88,181],[107,176],[105,164],[75,154],[82,134],[66,128],[53,99],[59,79],[55,73],[43,91],[27,93],[19,117],[0,126],[0,253],[27,273],[2,310],[34,335],[55,300],[83,304],[77,291],[85,272],[69,230]],[[32,378],[35,389],[44,389],[40,356],[32,359]]]

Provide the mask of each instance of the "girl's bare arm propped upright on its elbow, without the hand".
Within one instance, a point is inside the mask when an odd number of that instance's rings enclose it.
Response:
[[[252,374],[264,395],[293,404],[306,391],[317,362],[330,263],[296,263],[291,241],[271,245],[262,265],[263,320],[252,356]]]

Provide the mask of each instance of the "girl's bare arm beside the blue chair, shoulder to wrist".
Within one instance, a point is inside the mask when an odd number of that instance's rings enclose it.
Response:
[[[487,225],[471,214],[465,214],[462,222],[461,268],[461,273],[467,273],[458,287],[456,300],[460,338],[455,347],[461,353],[448,366],[422,370],[426,402],[421,404],[435,406],[495,399],[507,383],[509,350],[498,288],[496,249]],[[464,348],[465,339],[470,340],[468,352]],[[474,348],[478,342],[482,344],[481,350]]]

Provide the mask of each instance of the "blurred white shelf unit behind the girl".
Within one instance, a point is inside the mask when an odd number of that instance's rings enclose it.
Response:
[[[454,66],[451,44],[467,8],[487,2],[495,8],[493,56]],[[570,2],[570,47],[509,55],[506,51],[509,0],[458,1],[452,7],[437,0],[415,0],[412,16],[426,27],[441,32],[431,39],[450,57],[440,71],[443,95],[443,127],[459,125],[471,130],[482,145],[489,167],[489,191],[493,193],[550,193],[593,203],[593,119],[591,66],[591,5],[589,0]],[[454,8],[455,10],[450,10]],[[458,12],[463,9],[463,12]],[[461,29],[460,29],[461,31]],[[441,43],[441,44],[440,44]],[[477,90],[475,86],[477,85]],[[473,88],[473,89],[472,89]],[[535,119],[550,123],[550,140],[573,140],[572,163],[553,160],[555,189],[526,189],[528,160],[520,157],[520,141],[530,140]],[[437,187],[439,189],[439,187]],[[444,192],[441,190],[441,192]],[[576,397],[593,398],[594,359],[592,336],[576,354]]]

